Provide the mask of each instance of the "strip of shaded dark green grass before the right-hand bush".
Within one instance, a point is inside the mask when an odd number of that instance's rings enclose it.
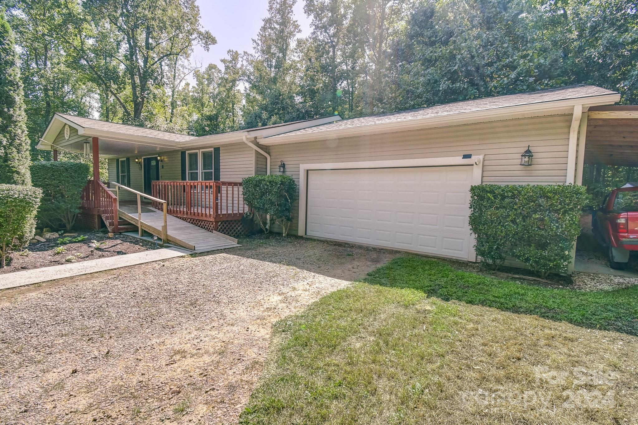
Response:
[[[364,282],[638,336],[638,285],[598,292],[545,288],[458,271],[441,261],[413,256],[371,271]]]

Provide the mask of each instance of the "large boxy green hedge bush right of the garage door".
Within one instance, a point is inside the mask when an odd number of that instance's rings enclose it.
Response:
[[[574,185],[477,185],[470,189],[477,255],[498,268],[506,257],[542,277],[565,272],[588,196]]]

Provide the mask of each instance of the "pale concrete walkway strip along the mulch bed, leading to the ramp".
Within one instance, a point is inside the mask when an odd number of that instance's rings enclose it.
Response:
[[[0,275],[0,289],[15,288],[24,285],[39,284],[49,280],[61,279],[95,273],[96,271],[135,266],[135,264],[151,263],[174,257],[188,256],[190,252],[177,248],[163,248],[124,256],[99,258],[81,263],[60,264],[59,266],[42,267],[32,270],[15,271]]]

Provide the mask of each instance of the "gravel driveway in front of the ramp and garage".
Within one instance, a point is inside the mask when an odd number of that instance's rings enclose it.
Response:
[[[242,243],[0,292],[0,422],[235,422],[272,322],[397,255]]]

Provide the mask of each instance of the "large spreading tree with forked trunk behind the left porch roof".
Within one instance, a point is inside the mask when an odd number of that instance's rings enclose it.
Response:
[[[175,69],[196,44],[208,50],[216,43],[195,0],[87,0],[80,10],[65,1],[69,52],[129,124],[151,121],[144,108],[167,86],[162,66]]]

